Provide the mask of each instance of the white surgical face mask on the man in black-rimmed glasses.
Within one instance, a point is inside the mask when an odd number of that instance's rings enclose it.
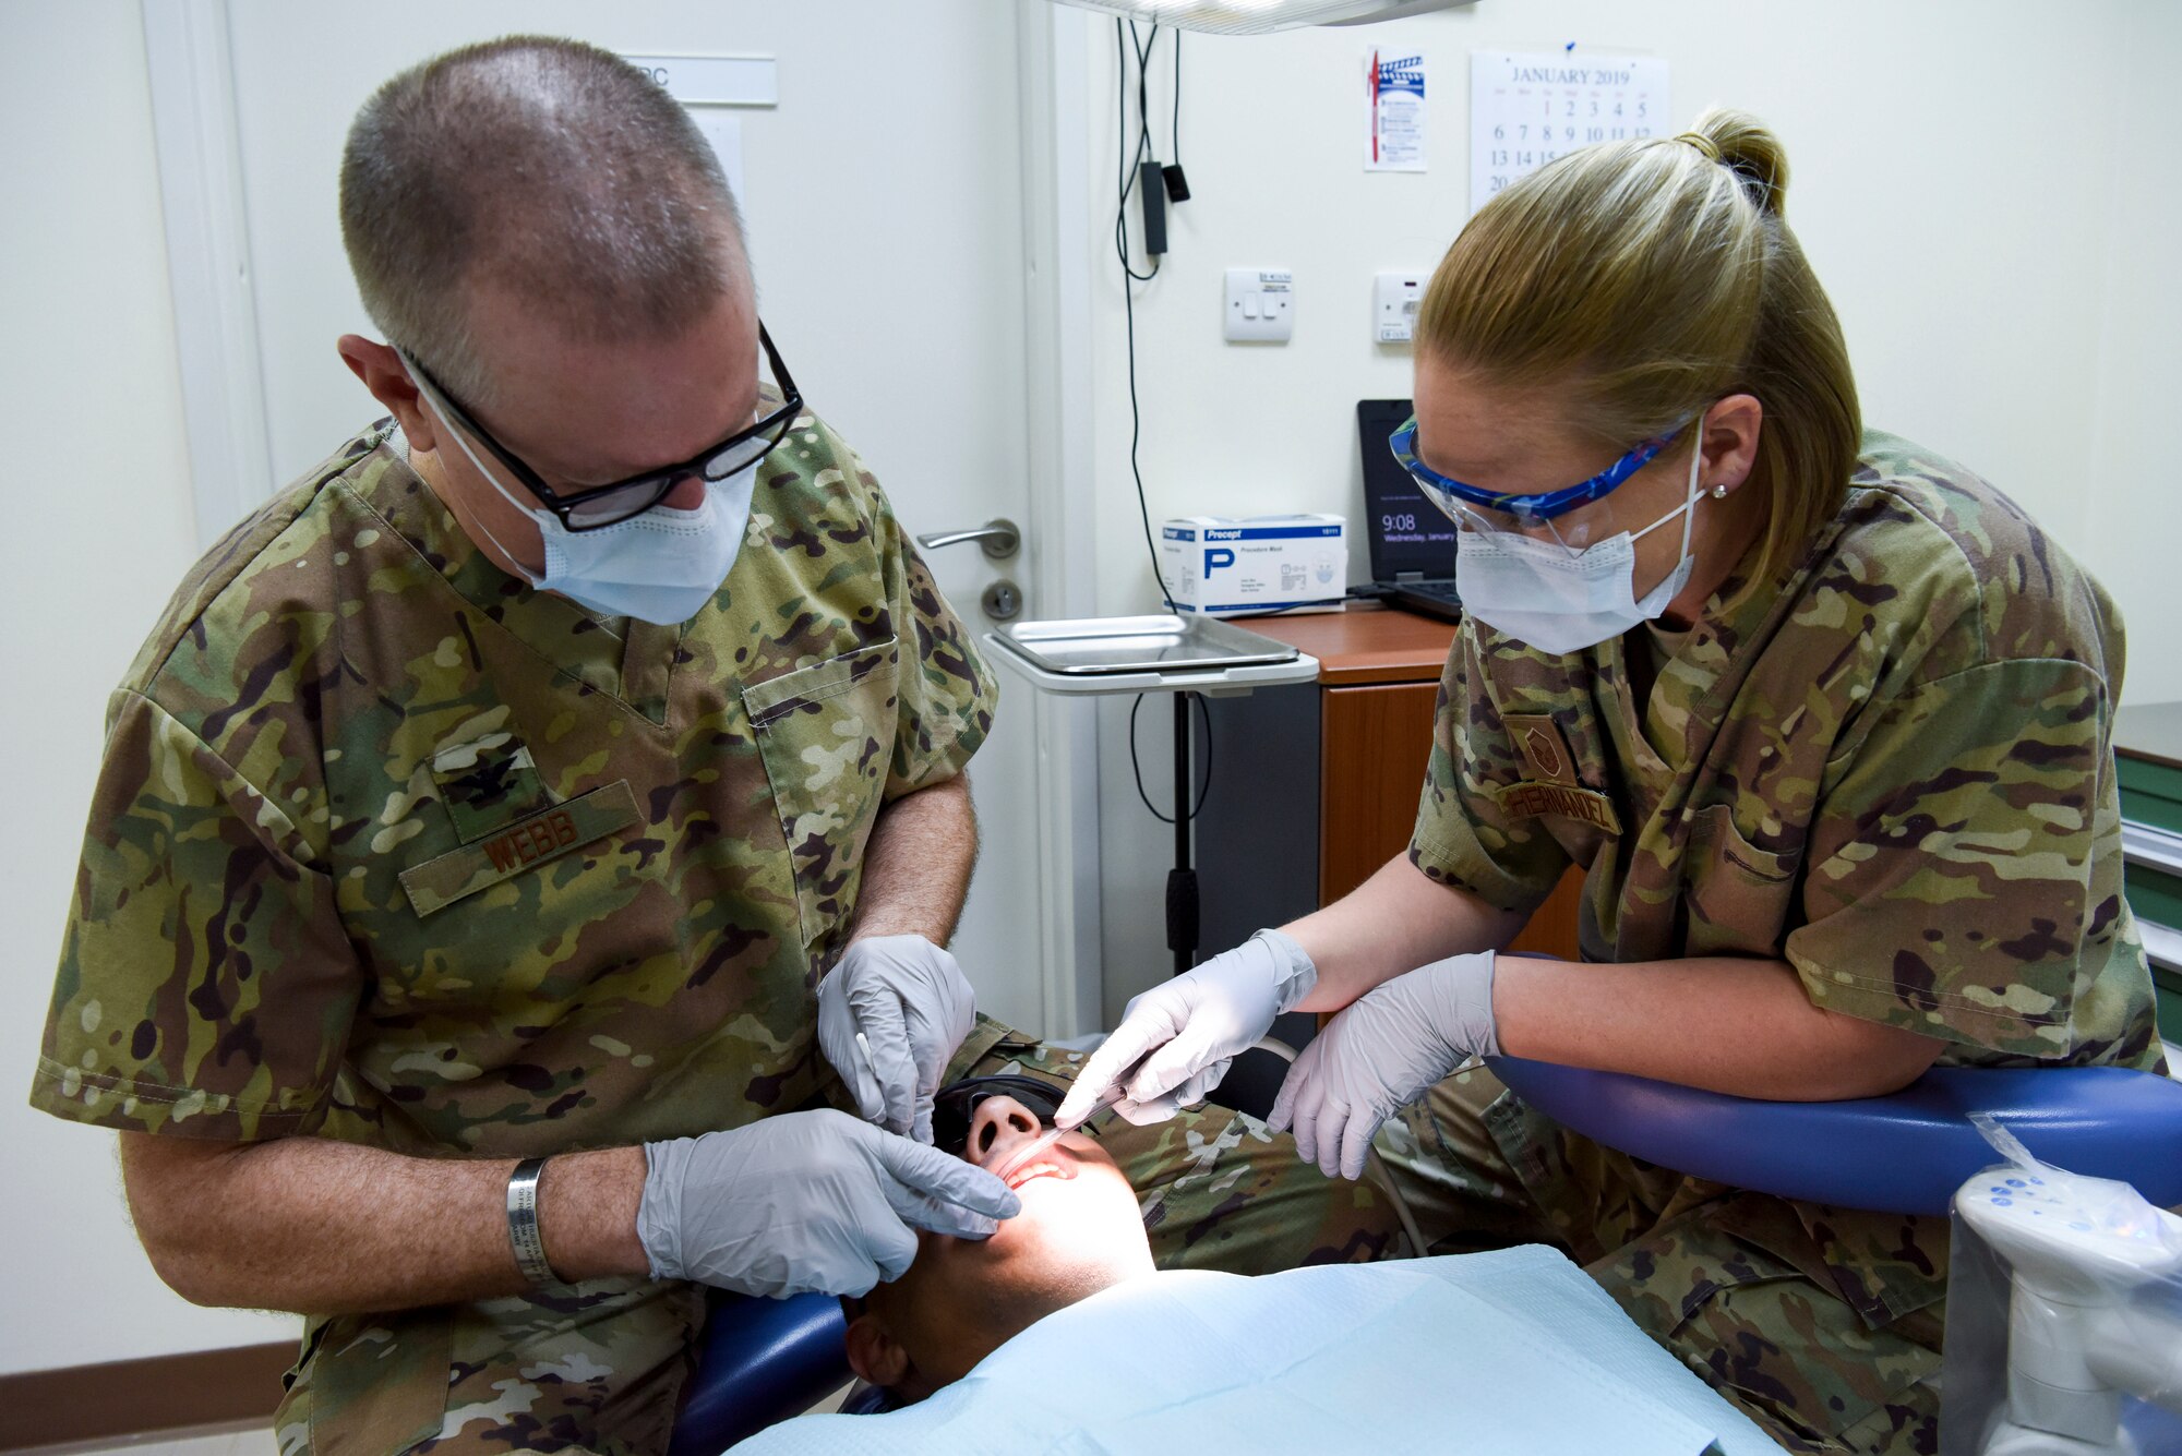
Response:
[[[508,506],[537,523],[539,541],[546,547],[541,575],[530,575],[491,530],[484,534],[539,591],[556,591],[607,617],[635,617],[672,628],[696,617],[733,569],[735,554],[742,549],[742,532],[751,519],[751,493],[757,486],[759,462],[753,460],[727,480],[707,482],[705,501],[696,510],[652,506],[644,514],[596,532],[572,532],[561,525],[561,517],[541,506],[524,503],[502,486],[500,477],[484,469],[478,453],[469,449],[463,432],[447,423],[430,392],[421,390],[419,397],[432,403],[441,429],[454,436],[478,473],[493,482],[493,490],[500,490]]]

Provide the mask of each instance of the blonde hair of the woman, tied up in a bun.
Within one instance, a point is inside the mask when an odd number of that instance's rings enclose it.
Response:
[[[1746,488],[1772,508],[1746,586],[1785,575],[1839,512],[1863,429],[1839,318],[1785,220],[1787,177],[1778,137],[1722,107],[1678,137],[1569,153],[1471,218],[1416,320],[1418,353],[1551,386],[1612,451],[1754,395]]]

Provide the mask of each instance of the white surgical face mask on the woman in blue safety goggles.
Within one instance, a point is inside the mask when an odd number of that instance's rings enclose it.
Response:
[[[1569,554],[1510,532],[1464,530],[1455,538],[1455,591],[1462,610],[1495,632],[1540,652],[1582,652],[1621,636],[1667,610],[1698,565],[1689,554],[1689,521],[1704,466],[1704,421],[1689,451],[1689,493],[1682,503],[1634,536],[1621,532]],[[1636,599],[1636,541],[1682,517],[1682,558],[1658,586]]]

